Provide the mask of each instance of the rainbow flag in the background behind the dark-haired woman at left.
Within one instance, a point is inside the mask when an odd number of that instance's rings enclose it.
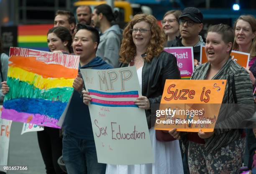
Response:
[[[47,32],[53,26],[53,24],[19,25],[18,47],[49,51],[47,45]]]

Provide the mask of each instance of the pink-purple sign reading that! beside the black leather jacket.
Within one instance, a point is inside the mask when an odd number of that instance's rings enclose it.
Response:
[[[189,79],[194,71],[193,47],[166,47],[164,50],[177,58],[181,78]]]

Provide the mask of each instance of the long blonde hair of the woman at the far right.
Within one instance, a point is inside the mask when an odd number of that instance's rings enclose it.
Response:
[[[252,32],[256,32],[256,19],[254,18],[254,16],[252,15],[241,15],[235,22],[235,25],[234,25],[234,30],[236,30],[236,23],[238,22],[238,20],[244,20],[246,22],[248,22],[250,25],[251,25],[251,30]],[[235,37],[235,40],[234,40],[234,44],[233,44],[233,50],[238,50],[239,48],[239,45],[236,43],[236,37]],[[252,40],[252,44],[250,46],[250,49],[249,49],[249,53],[250,53],[250,57],[253,58],[256,56],[256,38],[254,38]]]

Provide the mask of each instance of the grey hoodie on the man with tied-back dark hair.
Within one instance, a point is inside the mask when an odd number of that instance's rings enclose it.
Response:
[[[96,52],[97,56],[114,68],[118,68],[119,64],[119,50],[123,34],[121,31],[118,25],[113,25],[100,35],[100,44]]]

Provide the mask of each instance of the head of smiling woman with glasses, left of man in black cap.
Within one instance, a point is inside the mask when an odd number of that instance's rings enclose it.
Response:
[[[164,33],[167,36],[167,40],[174,40],[175,37],[179,36],[179,17],[182,12],[180,10],[170,10],[164,14],[161,24]]]

